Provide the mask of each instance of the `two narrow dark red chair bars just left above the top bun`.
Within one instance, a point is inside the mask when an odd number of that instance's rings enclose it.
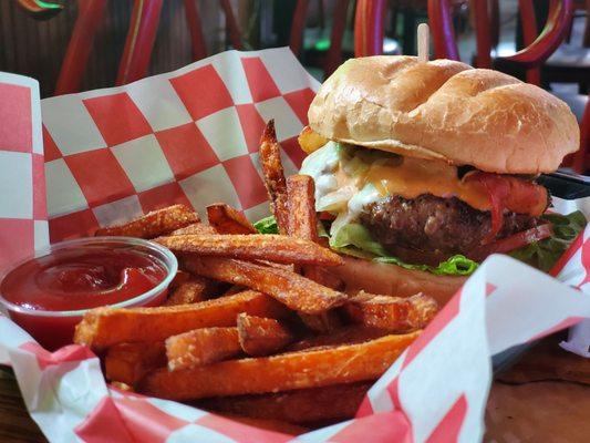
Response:
[[[323,1],[323,0],[319,0]],[[332,10],[332,32],[330,34],[330,49],[323,61],[325,76],[330,75],[342,63],[342,41],[346,29],[346,17],[350,0],[337,0]],[[306,30],[306,18],[308,14],[308,0],[297,0],[293,19],[291,21],[291,33],[289,35],[289,48],[296,55],[301,52],[303,42],[303,31]],[[323,7],[323,4],[322,4]]]

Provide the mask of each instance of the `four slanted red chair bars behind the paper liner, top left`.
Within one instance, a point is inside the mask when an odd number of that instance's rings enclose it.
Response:
[[[231,45],[241,49],[238,22],[229,0],[221,0],[226,16],[226,29]],[[146,75],[152,49],[156,39],[163,0],[134,0],[130,30],[118,65],[116,85],[134,82]],[[200,25],[196,0],[185,0],[185,13],[190,31],[193,56],[195,60],[207,56],[207,48]],[[60,70],[55,95],[77,92],[92,51],[94,37],[103,21],[106,0],[80,0],[79,16],[72,38]]]

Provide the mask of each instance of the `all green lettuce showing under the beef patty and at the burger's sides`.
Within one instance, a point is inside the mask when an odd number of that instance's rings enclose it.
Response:
[[[531,243],[509,255],[547,272],[583,230],[587,220],[579,210],[567,216],[546,214],[542,218],[553,226],[553,236]],[[277,220],[272,216],[262,218],[255,223],[253,226],[260,234],[278,234],[279,231]],[[321,224],[319,233],[321,236],[329,237]],[[392,264],[405,269],[424,270],[437,276],[470,276],[479,266],[477,261],[462,255],[453,256],[439,262],[438,266],[405,262],[397,257],[389,255],[383,246],[371,237],[369,230],[358,223],[349,223],[338,229],[335,235],[330,238],[330,247],[353,257]]]

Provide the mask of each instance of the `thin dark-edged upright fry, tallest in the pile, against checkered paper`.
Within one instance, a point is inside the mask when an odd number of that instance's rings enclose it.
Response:
[[[287,183],[273,120],[267,123],[260,138],[260,164],[262,165],[265,185],[270,197],[272,214],[279,226],[279,233],[286,235],[288,233]]]

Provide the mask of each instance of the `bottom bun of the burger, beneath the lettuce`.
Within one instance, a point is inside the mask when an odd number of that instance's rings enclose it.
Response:
[[[345,291],[365,290],[385,296],[410,297],[424,292],[444,306],[467,277],[436,276],[423,270],[342,256],[344,265],[330,271],[344,281]]]

